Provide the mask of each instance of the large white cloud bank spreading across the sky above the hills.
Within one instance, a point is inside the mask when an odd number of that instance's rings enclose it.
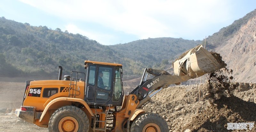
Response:
[[[211,24],[226,21],[230,13],[230,1],[222,0],[20,1],[62,19],[96,23],[118,32],[136,35],[140,39],[183,36],[194,39],[191,36],[195,35],[191,34],[198,34]],[[70,28],[68,31],[71,30],[75,29]],[[99,33],[78,31],[97,41],[101,38]]]

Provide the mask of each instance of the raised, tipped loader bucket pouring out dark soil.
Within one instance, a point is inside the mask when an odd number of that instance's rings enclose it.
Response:
[[[184,52],[172,63],[172,66],[175,75],[182,76],[189,74],[192,78],[197,78],[225,67],[219,63],[220,61],[222,61],[221,58],[220,60],[214,58],[202,45],[198,45]]]

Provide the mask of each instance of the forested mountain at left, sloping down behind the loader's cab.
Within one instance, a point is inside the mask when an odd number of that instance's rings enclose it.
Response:
[[[5,67],[9,72],[1,73],[2,76],[12,76],[13,69],[21,75],[56,75],[58,65],[62,65],[67,73],[71,69],[81,71],[86,58],[100,58],[107,49],[85,36],[62,32],[59,28],[33,27],[0,18],[0,56],[6,65],[14,67]],[[1,71],[4,71],[3,67]]]

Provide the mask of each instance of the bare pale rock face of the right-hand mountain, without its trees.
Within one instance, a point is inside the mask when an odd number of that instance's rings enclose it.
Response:
[[[216,48],[233,69],[237,82],[256,82],[256,16],[242,26],[227,44]]]

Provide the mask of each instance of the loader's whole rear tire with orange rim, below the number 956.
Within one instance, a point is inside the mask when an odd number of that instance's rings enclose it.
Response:
[[[48,129],[49,132],[88,132],[89,120],[78,107],[63,106],[52,114]]]

